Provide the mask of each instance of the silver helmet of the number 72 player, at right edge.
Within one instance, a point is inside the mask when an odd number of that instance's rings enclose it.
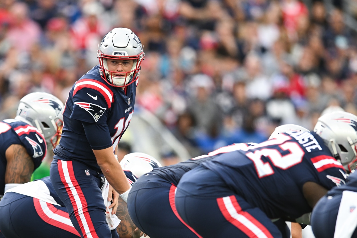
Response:
[[[318,118],[313,129],[348,173],[356,169],[357,116],[336,111]]]

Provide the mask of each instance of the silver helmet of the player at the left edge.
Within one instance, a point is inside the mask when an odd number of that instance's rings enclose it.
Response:
[[[21,98],[16,120],[36,127],[44,135],[47,148],[55,147],[63,127],[62,101],[49,93],[30,93]]]

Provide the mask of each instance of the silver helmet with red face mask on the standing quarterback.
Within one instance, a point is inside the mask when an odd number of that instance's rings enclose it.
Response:
[[[114,28],[109,31],[102,39],[99,49],[98,58],[100,74],[106,81],[114,87],[125,87],[134,83],[140,74],[140,64],[144,59],[143,46],[137,35],[127,28]],[[108,70],[107,60],[134,60],[131,71],[125,73],[125,77],[119,78],[113,76],[114,71]]]

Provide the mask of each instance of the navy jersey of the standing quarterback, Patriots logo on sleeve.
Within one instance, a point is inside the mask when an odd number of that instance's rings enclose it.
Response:
[[[100,172],[92,149],[116,148],[134,111],[137,82],[127,86],[125,94],[101,78],[99,65],[82,76],[67,98],[62,137],[54,158],[78,161]],[[86,135],[84,124],[104,129]]]

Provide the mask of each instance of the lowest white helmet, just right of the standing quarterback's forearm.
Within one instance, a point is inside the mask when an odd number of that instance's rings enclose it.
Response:
[[[121,168],[128,170],[134,174],[137,178],[141,175],[149,173],[155,168],[162,167],[162,165],[151,155],[134,152],[126,154],[120,161]]]

